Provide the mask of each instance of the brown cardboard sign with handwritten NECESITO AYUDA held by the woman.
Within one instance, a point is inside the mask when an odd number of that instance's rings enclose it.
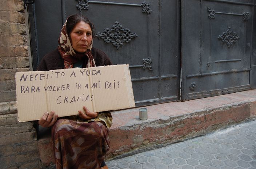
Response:
[[[135,107],[128,64],[16,73],[18,121]]]

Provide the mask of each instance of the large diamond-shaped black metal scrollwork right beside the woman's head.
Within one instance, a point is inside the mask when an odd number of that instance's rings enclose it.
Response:
[[[129,43],[137,36],[138,35],[135,32],[132,33],[130,29],[123,28],[119,22],[115,22],[111,28],[105,28],[103,32],[99,32],[96,35],[98,39],[103,39],[105,43],[112,43],[117,50],[123,46],[124,42]]]

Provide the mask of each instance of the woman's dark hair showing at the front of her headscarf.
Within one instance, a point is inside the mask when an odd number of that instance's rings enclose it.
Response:
[[[95,28],[94,25],[92,24],[91,21],[89,21],[89,19],[83,15],[80,14],[73,14],[71,16],[68,17],[67,20],[67,33],[68,35],[71,33],[71,31],[73,30],[73,28],[75,27],[75,25],[77,23],[79,23],[80,21],[84,21],[85,23],[89,24],[92,30],[92,37],[95,37]]]

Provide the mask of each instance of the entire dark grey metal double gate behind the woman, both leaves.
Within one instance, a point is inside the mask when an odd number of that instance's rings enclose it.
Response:
[[[93,46],[130,65],[136,106],[252,89],[255,8],[256,0],[35,1],[33,68],[57,47],[67,16],[81,13],[96,26]]]

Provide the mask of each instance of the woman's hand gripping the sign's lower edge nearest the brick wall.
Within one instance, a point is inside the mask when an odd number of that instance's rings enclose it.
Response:
[[[44,113],[43,117],[39,120],[38,124],[42,127],[51,127],[57,121],[58,115],[54,111]]]

